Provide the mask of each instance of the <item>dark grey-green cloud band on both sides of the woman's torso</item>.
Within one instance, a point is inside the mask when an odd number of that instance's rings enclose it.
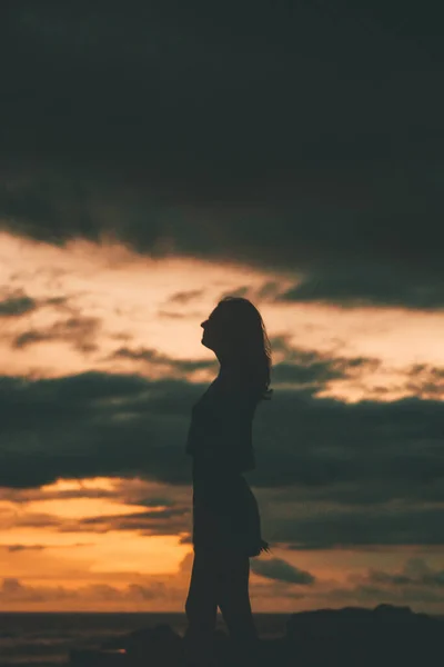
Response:
[[[2,484],[16,486],[16,476],[17,486],[26,487],[59,476],[139,472],[183,482],[191,406],[205,388],[101,372],[41,380],[2,378],[0,454],[9,457],[1,467]],[[254,429],[261,466],[254,480],[260,486],[321,489],[377,479],[397,485],[397,491],[408,485],[412,494],[416,484],[425,479],[431,484],[442,475],[442,410],[438,401],[416,398],[343,404],[303,390],[276,392],[258,410]],[[182,464],[172,468],[171,460]]]

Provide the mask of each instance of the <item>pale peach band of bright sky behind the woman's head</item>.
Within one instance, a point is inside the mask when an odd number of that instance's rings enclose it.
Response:
[[[94,369],[210,381],[214,371],[180,370],[169,359],[214,361],[201,345],[200,323],[222,295],[240,288],[260,308],[271,338],[283,335],[289,345],[326,357],[380,361],[379,368],[365,368],[359,377],[330,381],[322,396],[349,402],[396,400],[421,394],[421,388],[406,386],[408,366],[444,366],[443,312],[291,303],[260,296],[265,283],[284,292],[299,280],[296,270],[143,257],[107,238],[99,243],[71,240],[59,248],[2,232],[0,281],[8,286],[2,293],[27,295],[38,306],[3,318],[2,371],[39,378]],[[14,347],[20,336],[24,342]],[[130,355],[117,355],[119,349]],[[275,362],[281,357],[278,352]]]

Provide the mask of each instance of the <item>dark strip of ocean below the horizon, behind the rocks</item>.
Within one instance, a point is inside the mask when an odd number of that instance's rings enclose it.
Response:
[[[255,614],[261,637],[284,634],[290,614]],[[0,613],[0,667],[54,667],[68,661],[71,648],[99,648],[111,637],[138,628],[169,624],[183,635],[184,614],[152,613]],[[219,615],[218,627],[224,628]]]

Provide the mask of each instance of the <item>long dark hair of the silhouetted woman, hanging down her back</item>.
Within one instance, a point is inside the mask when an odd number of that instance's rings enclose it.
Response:
[[[242,297],[224,297],[218,310],[230,313],[224,335],[230,352],[246,374],[260,400],[270,400],[272,354],[264,321],[258,308]]]

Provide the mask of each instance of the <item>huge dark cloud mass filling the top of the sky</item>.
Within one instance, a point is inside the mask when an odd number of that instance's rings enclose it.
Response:
[[[440,14],[16,2],[2,225],[303,269],[293,299],[317,285],[320,299],[442,307]]]

